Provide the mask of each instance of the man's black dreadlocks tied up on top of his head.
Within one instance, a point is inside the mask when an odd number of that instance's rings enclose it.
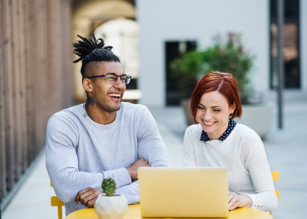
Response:
[[[77,42],[72,43],[72,46],[75,47],[73,53],[80,56],[76,59],[74,63],[82,60],[81,74],[83,77],[84,67],[89,62],[105,61],[105,62],[120,62],[120,59],[115,55],[111,49],[112,46],[104,46],[104,41],[102,38],[95,38],[95,35],[92,35],[92,38],[85,38],[77,35],[83,41],[78,40]],[[99,42],[100,41],[100,42]]]

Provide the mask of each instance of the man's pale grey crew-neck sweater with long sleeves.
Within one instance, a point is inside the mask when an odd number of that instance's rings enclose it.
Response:
[[[169,166],[153,116],[146,106],[122,102],[115,121],[101,125],[87,116],[83,105],[55,113],[47,124],[46,167],[66,215],[85,208],[74,203],[80,190],[101,190],[108,177],[115,180],[116,193],[129,204],[138,203],[138,181],[131,182],[125,167],[141,157],[150,166]]]

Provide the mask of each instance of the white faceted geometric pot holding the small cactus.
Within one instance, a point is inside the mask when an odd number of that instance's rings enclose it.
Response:
[[[122,219],[128,210],[128,202],[121,194],[106,196],[103,193],[97,197],[94,209],[99,219]]]

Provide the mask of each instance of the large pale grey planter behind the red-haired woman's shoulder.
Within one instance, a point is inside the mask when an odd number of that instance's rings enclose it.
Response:
[[[271,103],[242,105],[242,117],[236,118],[235,121],[253,129],[264,139],[272,128],[273,112],[274,107]]]

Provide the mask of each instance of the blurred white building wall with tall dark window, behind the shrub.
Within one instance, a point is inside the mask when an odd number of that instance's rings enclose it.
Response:
[[[169,42],[212,45],[216,34],[239,33],[245,50],[255,55],[251,81],[259,100],[275,100],[276,1],[155,0],[136,1],[140,28],[140,103],[166,106],[166,47]],[[307,100],[307,2],[285,0],[284,57],[286,100]],[[190,46],[191,47],[191,46]],[[193,47],[193,46],[192,46]],[[289,64],[288,64],[289,63]]]

